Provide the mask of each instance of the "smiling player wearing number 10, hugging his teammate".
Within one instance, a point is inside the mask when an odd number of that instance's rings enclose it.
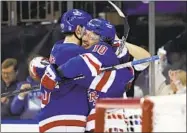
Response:
[[[108,21],[91,20],[86,26],[84,36],[95,45],[87,53],[72,58],[58,69],[54,65],[47,66],[41,84],[53,91],[57,82],[60,82],[62,78],[84,75],[86,78],[77,80],[76,84],[84,86],[82,89],[89,88],[88,100],[91,114],[94,113],[97,98],[123,97],[124,86],[133,78],[133,70],[126,68],[118,71],[100,71],[101,67],[119,64],[119,59],[112,46],[115,33],[114,26]],[[77,68],[79,69],[77,70]],[[93,122],[88,124],[91,125],[88,126],[88,130],[94,128]]]

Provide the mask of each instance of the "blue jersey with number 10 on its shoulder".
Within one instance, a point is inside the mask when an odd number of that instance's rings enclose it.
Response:
[[[100,71],[100,68],[120,64],[120,60],[114,51],[115,49],[106,43],[94,45],[87,53],[74,57],[59,67],[64,77],[85,76],[85,79],[77,80],[76,83],[84,86],[84,88],[89,88],[90,113],[87,117],[86,126],[88,131],[93,130],[95,127],[94,116],[97,99],[123,97],[125,85],[134,78],[133,68]]]

